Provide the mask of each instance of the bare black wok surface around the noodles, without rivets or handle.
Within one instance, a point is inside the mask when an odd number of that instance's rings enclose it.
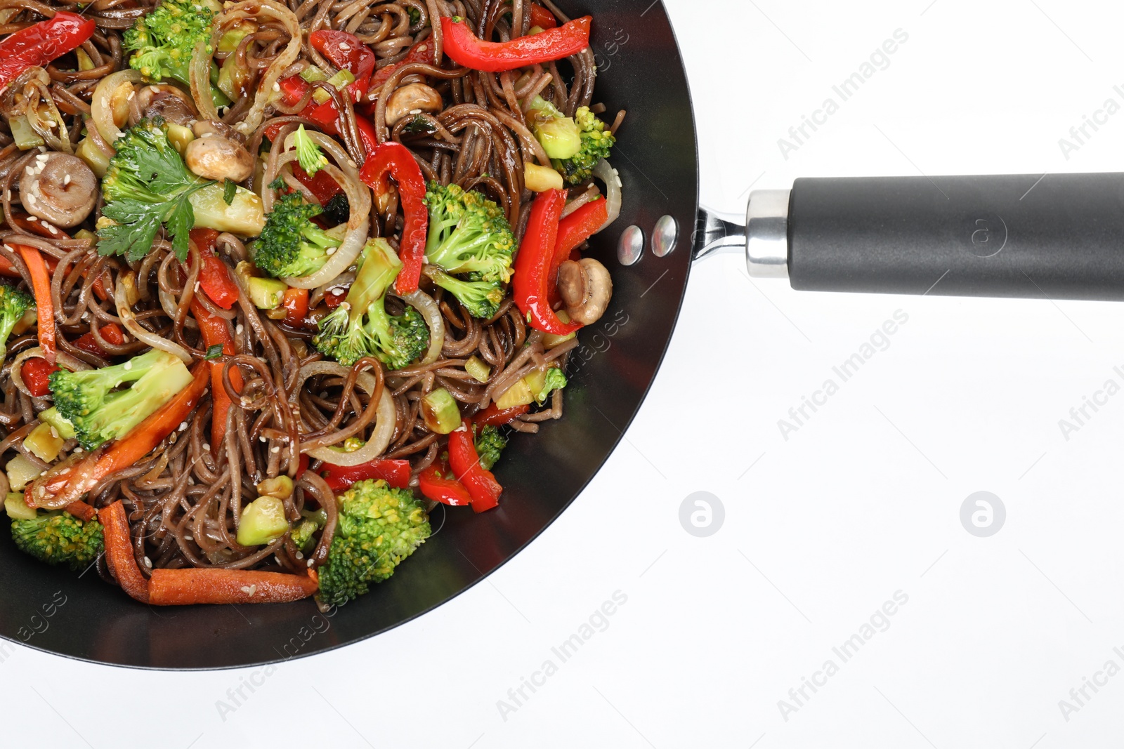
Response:
[[[543,423],[538,435],[514,435],[497,465],[505,487],[499,509],[478,517],[438,505],[430,517],[434,537],[391,579],[332,612],[327,628],[324,618],[314,627],[319,612],[310,600],[237,609],[146,606],[102,583],[93,569],[80,579],[25,556],[4,527],[0,637],[142,668],[228,668],[308,656],[383,632],[468,590],[578,495],[632,421],[671,337],[690,265],[698,175],[690,94],[662,4],[561,7],[573,17],[593,16],[593,101],[604,102],[610,116],[628,110],[611,159],[624,183],[624,207],[616,223],[593,238],[591,252],[613,274],[614,294],[605,317],[579,334],[563,418]],[[674,252],[655,257],[647,244],[637,264],[622,266],[620,231],[636,225],[650,239],[664,214],[679,226]]]

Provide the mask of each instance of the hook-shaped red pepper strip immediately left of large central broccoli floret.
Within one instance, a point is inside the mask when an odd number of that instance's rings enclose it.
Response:
[[[405,216],[402,239],[398,244],[402,270],[395,280],[395,292],[405,296],[418,290],[422,264],[425,262],[429,211],[425,207],[425,177],[422,175],[422,167],[414,161],[414,154],[402,144],[387,140],[379,144],[374,154],[364,162],[359,179],[375,195],[382,195],[390,190],[391,176],[398,183],[398,195]]]

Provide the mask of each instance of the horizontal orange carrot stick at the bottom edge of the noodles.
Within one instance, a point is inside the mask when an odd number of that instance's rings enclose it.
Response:
[[[154,569],[148,603],[289,603],[314,595],[316,581],[303,575],[248,569]]]

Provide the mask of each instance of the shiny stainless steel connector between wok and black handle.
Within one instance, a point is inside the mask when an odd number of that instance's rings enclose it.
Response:
[[[741,216],[699,208],[692,249],[695,259],[719,253],[745,253],[754,278],[788,277],[788,202],[790,190],[758,190]]]

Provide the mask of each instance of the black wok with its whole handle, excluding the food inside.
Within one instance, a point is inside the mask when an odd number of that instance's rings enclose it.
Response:
[[[662,4],[563,9],[593,13],[596,100],[628,111],[613,156],[623,210],[590,253],[614,294],[580,334],[563,419],[511,439],[499,509],[438,505],[434,537],[392,579],[328,614],[311,601],[145,606],[0,533],[0,637],[111,665],[228,668],[342,647],[441,605],[534,540],[601,467],[660,366],[692,259],[713,253],[745,253],[750,275],[798,290],[1124,299],[1124,174],[801,179],[752,193],[744,218],[700,209],[690,93]]]

